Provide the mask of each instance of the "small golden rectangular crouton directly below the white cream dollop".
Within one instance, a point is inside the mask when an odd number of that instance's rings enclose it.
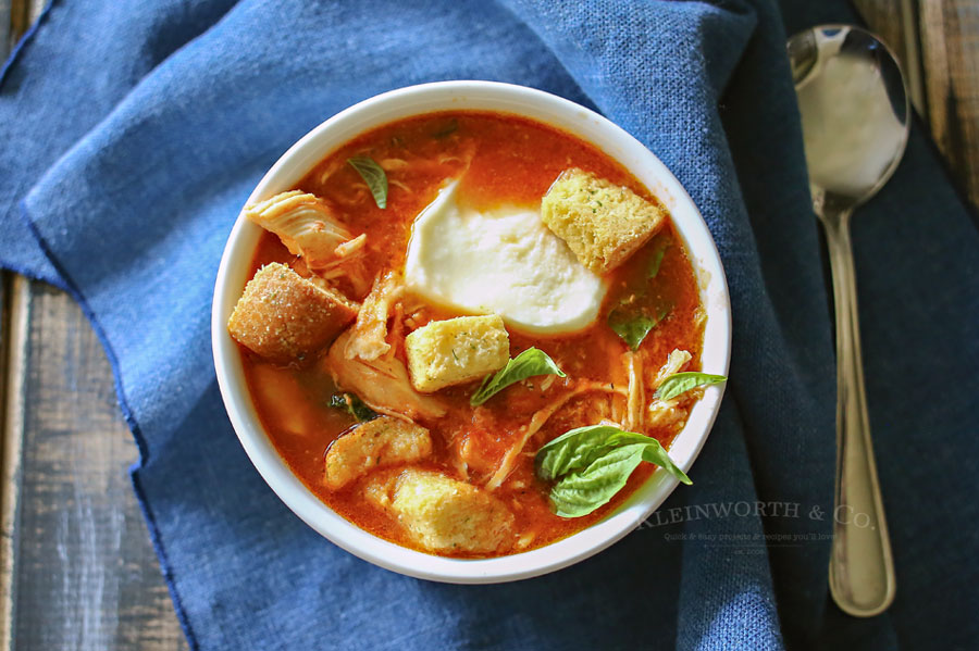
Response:
[[[498,314],[433,321],[405,339],[411,384],[437,391],[479,379],[510,359],[510,338]]]

